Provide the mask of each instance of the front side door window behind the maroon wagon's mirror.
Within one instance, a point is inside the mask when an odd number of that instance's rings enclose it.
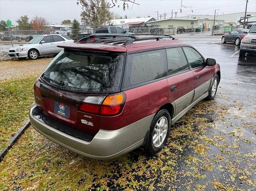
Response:
[[[192,68],[201,67],[204,65],[204,59],[202,56],[191,47],[183,47],[183,50],[188,59],[188,65]]]

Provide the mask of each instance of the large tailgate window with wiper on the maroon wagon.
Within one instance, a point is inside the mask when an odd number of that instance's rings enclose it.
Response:
[[[120,89],[124,55],[62,51],[42,78],[68,91],[111,93]]]

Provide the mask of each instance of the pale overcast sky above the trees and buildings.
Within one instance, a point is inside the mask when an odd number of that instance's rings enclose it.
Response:
[[[81,6],[76,5],[77,0],[0,0],[0,20],[11,20],[12,24],[16,24],[22,15],[42,16],[52,24],[60,24],[62,20],[76,18],[80,21]],[[246,0],[183,0],[182,5],[188,8],[182,8],[179,12],[181,0],[136,0],[136,3],[129,4],[129,9],[122,10],[122,2],[118,0],[120,8],[117,6],[111,11],[120,16],[127,15],[128,18],[136,16],[152,16],[157,18],[159,15],[167,13],[166,18],[171,17],[171,12],[178,12],[178,16],[186,16],[189,14],[212,14],[214,10],[218,14],[229,14],[235,12],[244,12]],[[192,11],[193,10],[193,13]],[[249,0],[247,12],[256,12],[256,0]]]

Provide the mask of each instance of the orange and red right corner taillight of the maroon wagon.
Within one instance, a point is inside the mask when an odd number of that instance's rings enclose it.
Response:
[[[126,100],[126,95],[124,93],[118,93],[114,95],[108,95],[102,102],[100,107],[101,115],[115,115],[120,113],[122,106]]]

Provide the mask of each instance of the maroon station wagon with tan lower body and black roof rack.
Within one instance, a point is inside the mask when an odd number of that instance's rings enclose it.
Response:
[[[91,35],[64,48],[34,83],[32,126],[82,156],[111,159],[166,143],[170,126],[214,99],[220,66],[170,35]]]

